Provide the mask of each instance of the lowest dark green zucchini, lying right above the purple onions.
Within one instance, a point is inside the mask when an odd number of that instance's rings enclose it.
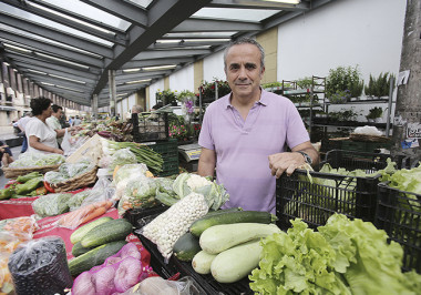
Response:
[[[111,242],[71,260],[69,262],[70,274],[76,276],[96,265],[103,264],[107,257],[116,254],[125,244],[127,244],[125,241]]]

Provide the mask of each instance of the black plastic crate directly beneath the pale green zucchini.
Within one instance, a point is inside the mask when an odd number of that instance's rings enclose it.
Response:
[[[174,258],[174,260],[173,260]],[[176,268],[183,274],[192,276],[198,285],[206,292],[207,295],[248,295],[254,294],[250,289],[250,281],[245,277],[238,282],[230,284],[223,284],[215,281],[215,278],[208,275],[201,275],[193,269],[192,262],[182,262],[174,256],[172,257]]]

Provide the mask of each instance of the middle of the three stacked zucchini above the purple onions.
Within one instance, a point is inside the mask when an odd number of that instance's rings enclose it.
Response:
[[[132,232],[132,224],[126,220],[112,220],[89,231],[82,238],[83,247],[95,247],[110,242],[125,240]]]

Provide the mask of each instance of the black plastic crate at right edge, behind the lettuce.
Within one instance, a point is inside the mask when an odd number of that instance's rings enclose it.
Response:
[[[403,271],[421,273],[421,195],[379,183],[376,226],[403,247]]]

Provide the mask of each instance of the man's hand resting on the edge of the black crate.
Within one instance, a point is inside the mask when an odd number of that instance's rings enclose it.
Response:
[[[300,153],[277,153],[269,155],[269,169],[271,170],[271,175],[277,179],[283,175],[284,172],[287,175],[291,175],[292,172],[306,163],[302,154]]]

